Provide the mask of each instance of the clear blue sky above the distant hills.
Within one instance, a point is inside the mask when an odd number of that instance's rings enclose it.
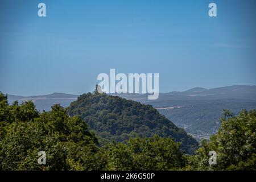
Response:
[[[255,0],[1,0],[0,24],[3,93],[91,92],[110,68],[159,73],[160,92],[256,85]]]

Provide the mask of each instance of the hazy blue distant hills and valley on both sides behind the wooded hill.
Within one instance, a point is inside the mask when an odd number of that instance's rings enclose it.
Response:
[[[224,86],[221,88],[192,88],[183,92],[160,93],[158,100],[148,100],[147,94],[113,94],[149,104],[159,110],[176,126],[183,127],[197,139],[208,138],[220,126],[223,109],[238,114],[242,109],[256,109],[256,86]],[[51,110],[53,104],[68,107],[78,95],[53,93],[44,96],[8,95],[9,102],[32,100],[40,111]]]

